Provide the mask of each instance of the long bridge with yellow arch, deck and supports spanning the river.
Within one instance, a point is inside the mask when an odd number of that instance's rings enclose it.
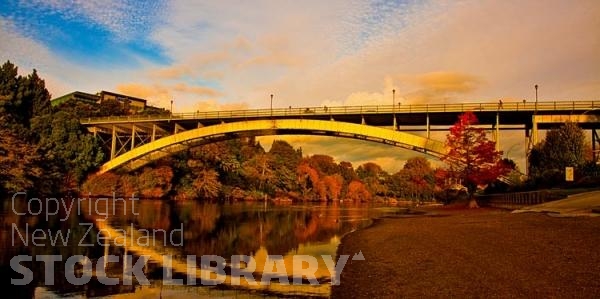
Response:
[[[432,131],[447,131],[458,116],[474,112],[499,148],[501,130],[521,130],[529,147],[539,130],[566,121],[592,131],[594,157],[600,148],[600,101],[460,103],[383,106],[301,107],[81,119],[110,149],[100,173],[134,170],[189,146],[265,135],[325,135],[385,143],[432,156],[447,150]]]

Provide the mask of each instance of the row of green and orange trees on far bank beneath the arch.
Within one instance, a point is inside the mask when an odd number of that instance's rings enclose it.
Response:
[[[389,174],[373,162],[354,168],[328,155],[303,156],[283,140],[266,151],[254,138],[244,138],[195,146],[131,173],[92,175],[82,191],[208,201],[432,200],[434,173],[422,157]]]

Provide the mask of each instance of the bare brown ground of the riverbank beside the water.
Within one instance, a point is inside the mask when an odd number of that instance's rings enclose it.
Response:
[[[333,298],[559,297],[600,293],[600,217],[437,208],[345,236]]]

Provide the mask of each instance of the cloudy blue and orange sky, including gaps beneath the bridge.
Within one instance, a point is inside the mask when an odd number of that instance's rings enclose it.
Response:
[[[600,100],[600,2],[0,1],[0,60],[53,97],[109,90],[175,112],[274,107]],[[443,140],[443,134],[433,136]],[[274,139],[262,138],[268,148]],[[287,137],[397,171],[417,153]],[[524,167],[524,133],[504,134]],[[437,163],[437,162],[434,162]]]

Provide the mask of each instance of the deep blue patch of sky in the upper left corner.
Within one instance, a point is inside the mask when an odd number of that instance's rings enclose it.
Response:
[[[77,64],[93,68],[137,67],[138,58],[169,63],[160,44],[148,38],[165,4],[121,3],[127,7],[126,17],[98,12],[102,17],[93,11],[50,1],[9,0],[0,3],[0,16],[11,21],[19,34]]]

